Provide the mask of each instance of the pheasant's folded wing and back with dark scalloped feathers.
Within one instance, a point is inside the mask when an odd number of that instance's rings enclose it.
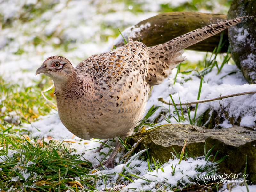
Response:
[[[145,81],[148,71],[148,48],[139,42],[129,42],[123,47],[83,60],[75,68],[78,75],[86,75],[98,81],[102,89],[112,89],[126,83],[134,72]]]

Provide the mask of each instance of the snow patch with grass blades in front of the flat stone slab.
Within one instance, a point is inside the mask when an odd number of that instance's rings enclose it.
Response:
[[[136,156],[136,155],[135,155]],[[131,157],[133,159],[133,157]],[[202,159],[194,160],[193,158],[189,158],[187,161],[181,161],[180,164],[179,159],[175,160],[169,160],[168,163],[163,164],[162,170],[154,170],[152,172],[149,172],[148,170],[148,163],[145,161],[140,161],[133,159],[131,163],[129,162],[121,165],[117,165],[114,169],[106,169],[101,170],[100,172],[93,173],[94,175],[97,175],[98,177],[101,175],[107,175],[107,174],[113,174],[116,173],[111,177],[111,181],[115,183],[115,181],[118,179],[119,174],[122,173],[122,171],[125,169],[125,173],[130,173],[133,175],[136,175],[136,173],[140,173],[138,175],[140,178],[133,178],[134,182],[130,184],[126,184],[124,188],[120,191],[134,191],[134,188],[136,190],[152,190],[157,183],[163,183],[166,182],[170,184],[171,186],[176,186],[178,182],[181,183],[192,183],[190,179],[195,179],[196,176],[200,173],[196,170],[196,167],[204,167],[206,164],[211,164],[211,162],[206,162]],[[129,164],[129,165],[128,165]],[[152,166],[152,165],[151,165]],[[174,167],[175,172],[174,172]],[[174,174],[172,175],[172,172]],[[103,179],[103,178],[102,178]],[[150,182],[146,181],[149,180]],[[109,187],[109,185],[106,185]],[[99,180],[96,184],[96,189],[104,189],[105,185],[103,180]],[[130,189],[133,188],[133,189]]]

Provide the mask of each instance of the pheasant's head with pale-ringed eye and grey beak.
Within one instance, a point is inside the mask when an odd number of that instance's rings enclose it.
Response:
[[[65,57],[48,57],[44,63],[36,70],[36,75],[43,73],[53,79],[54,83],[66,82],[68,77],[74,73],[74,68]]]

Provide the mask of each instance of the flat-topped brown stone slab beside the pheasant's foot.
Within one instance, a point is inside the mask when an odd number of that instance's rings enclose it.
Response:
[[[186,139],[186,149],[191,156],[204,156],[206,141],[206,152],[215,146],[211,152],[213,155],[211,161],[219,150],[215,161],[228,155],[219,164],[218,172],[222,174],[243,173],[247,155],[246,174],[248,173],[248,179],[256,184],[256,131],[253,129],[233,126],[212,130],[193,125],[170,124],[132,135],[130,145],[132,146],[142,137],[144,137],[142,143],[148,148],[149,156],[162,163],[173,157],[174,150],[180,153]],[[143,144],[138,145],[137,150],[145,149]]]

